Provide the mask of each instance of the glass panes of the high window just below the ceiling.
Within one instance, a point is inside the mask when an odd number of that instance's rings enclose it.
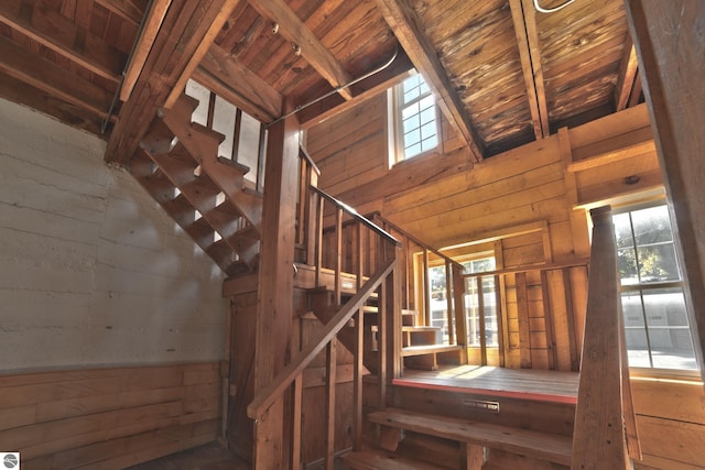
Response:
[[[408,160],[438,146],[436,106],[419,74],[397,87],[397,160]]]

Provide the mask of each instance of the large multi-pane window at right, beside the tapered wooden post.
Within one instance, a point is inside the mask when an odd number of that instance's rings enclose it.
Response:
[[[630,367],[697,369],[665,205],[612,218]]]

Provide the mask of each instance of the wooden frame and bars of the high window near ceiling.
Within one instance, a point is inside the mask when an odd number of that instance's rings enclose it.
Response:
[[[403,103],[403,86],[404,83],[419,75],[421,77],[421,79],[426,84],[426,86],[429,87],[429,91],[420,95],[419,97],[414,98],[412,101],[410,101],[410,103],[413,102],[419,102],[422,99],[426,98],[426,97],[432,97],[433,98],[433,110],[434,110],[434,123],[435,123],[435,136],[436,136],[436,145],[431,147],[431,149],[426,149],[425,151],[422,151],[421,153],[417,153],[415,155],[409,156],[406,157],[405,155],[405,147],[404,147],[404,134],[403,134],[403,129],[402,129],[402,109],[404,106],[408,106],[409,103]],[[435,98],[435,95],[433,94],[433,90],[431,89],[431,86],[429,85],[429,83],[425,80],[425,78],[423,76],[421,76],[421,74],[417,74],[416,72],[412,72],[409,76],[406,76],[403,80],[401,80],[400,83],[398,83],[397,85],[390,87],[387,90],[387,102],[389,103],[388,106],[388,129],[389,129],[389,139],[388,139],[388,145],[389,145],[389,167],[391,168],[392,166],[402,163],[402,162],[408,162],[411,160],[417,160],[420,157],[423,157],[425,155],[430,155],[430,154],[437,154],[440,149],[441,149],[441,143],[442,143],[442,133],[441,133],[441,112],[438,109],[438,105]],[[422,140],[423,141],[423,140]]]

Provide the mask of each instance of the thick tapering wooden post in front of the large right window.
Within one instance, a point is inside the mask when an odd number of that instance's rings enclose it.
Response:
[[[640,458],[636,433],[617,248],[609,206],[593,209],[593,247],[572,469],[628,469]]]

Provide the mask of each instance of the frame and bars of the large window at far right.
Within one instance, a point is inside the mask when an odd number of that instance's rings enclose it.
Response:
[[[647,200],[647,201],[641,201],[641,203],[636,203],[636,204],[625,204],[625,205],[620,205],[618,207],[615,207],[612,209],[612,218],[615,216],[618,215],[622,215],[622,214],[630,214],[630,212],[634,212],[634,211],[639,211],[639,210],[643,210],[643,209],[649,209],[649,208],[653,208],[653,207],[660,207],[660,206],[665,206],[668,208],[668,201],[665,200],[665,198],[655,198],[655,199],[651,199],[651,200]],[[697,354],[697,351],[695,351],[696,348],[696,343],[695,343],[695,337],[693,335],[693,327],[694,327],[694,318],[693,318],[693,311],[692,311],[692,307],[690,305],[688,302],[688,285],[686,284],[685,280],[683,278],[683,271],[682,271],[682,260],[679,256],[679,248],[677,248],[677,243],[679,240],[675,237],[675,233],[673,231],[673,220],[671,217],[671,214],[669,211],[669,225],[670,225],[670,229],[671,229],[671,239],[672,239],[672,243],[673,243],[673,249],[675,251],[675,262],[676,262],[676,269],[679,272],[679,280],[677,281],[662,281],[662,282],[638,282],[636,284],[622,284],[621,283],[621,275],[619,277],[619,294],[620,294],[620,307],[621,307],[621,295],[623,293],[634,293],[637,295],[639,295],[640,299],[641,299],[641,314],[643,315],[643,331],[644,335],[647,336],[647,347],[648,347],[648,354],[649,354],[649,363],[651,367],[646,367],[646,365],[631,365],[629,364],[629,369],[631,371],[634,371],[634,373],[637,373],[638,375],[641,376],[659,376],[659,378],[676,378],[676,379],[692,379],[692,378],[699,378],[699,371],[702,368],[702,364],[699,363],[699,358]],[[614,223],[614,222],[612,222]],[[633,226],[630,229],[630,234],[632,238],[632,243],[633,243],[633,249],[637,249],[636,245],[636,239],[634,239],[634,232],[633,232]],[[615,237],[616,237],[616,227],[615,227]],[[637,266],[637,270],[639,267]],[[687,331],[690,332],[690,338],[691,338],[691,345],[693,348],[693,359],[695,360],[695,369],[671,369],[671,368],[659,368],[659,367],[653,367],[653,359],[652,359],[652,347],[651,343],[649,341],[649,328],[650,326],[652,327],[653,325],[649,325],[649,321],[647,319],[647,311],[644,310],[644,305],[643,305],[643,293],[648,293],[649,291],[653,291],[653,289],[659,289],[659,288],[680,288],[682,294],[683,294],[683,302],[684,302],[684,308],[685,308],[685,317],[688,321],[687,327],[685,328],[681,328],[681,329],[687,329]],[[622,314],[622,318],[623,318],[623,311],[622,308],[620,308],[620,313]],[[622,325],[623,325],[623,331],[625,331],[625,338],[626,338],[626,334],[627,334],[627,325],[626,325],[626,318],[622,320]],[[671,328],[668,328],[668,330],[670,331]],[[626,345],[625,345],[626,346]]]

